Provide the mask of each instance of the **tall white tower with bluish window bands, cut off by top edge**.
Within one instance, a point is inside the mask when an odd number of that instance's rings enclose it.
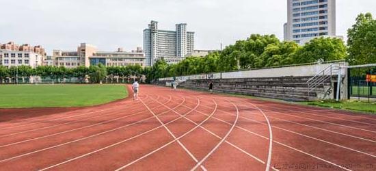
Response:
[[[336,0],[287,0],[284,40],[305,44],[319,36],[336,36]]]

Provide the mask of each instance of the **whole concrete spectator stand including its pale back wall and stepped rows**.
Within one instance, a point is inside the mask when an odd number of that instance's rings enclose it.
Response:
[[[330,79],[319,83],[314,90],[308,88],[308,80],[331,65],[314,64],[170,77],[159,79],[155,84],[167,86],[173,79],[176,79],[178,88],[209,91],[209,83],[213,81],[213,92],[276,98],[286,101],[315,101],[334,98],[334,82],[337,81],[337,75],[325,76]]]

